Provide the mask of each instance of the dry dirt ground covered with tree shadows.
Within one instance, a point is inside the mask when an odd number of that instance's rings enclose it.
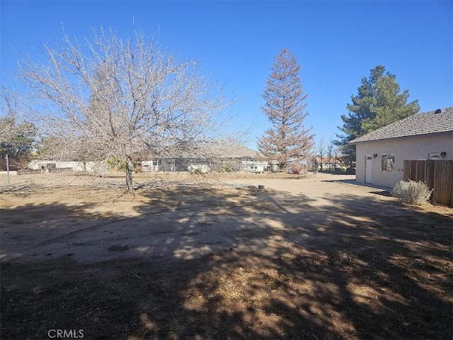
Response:
[[[3,175],[1,339],[452,339],[453,210],[353,179]]]

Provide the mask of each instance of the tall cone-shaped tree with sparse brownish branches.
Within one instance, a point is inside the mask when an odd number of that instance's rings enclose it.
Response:
[[[289,159],[306,159],[311,154],[313,137],[305,128],[306,95],[299,79],[300,66],[286,48],[275,57],[275,62],[263,92],[265,105],[261,110],[273,128],[258,140],[258,149],[265,159],[277,161],[284,169]]]

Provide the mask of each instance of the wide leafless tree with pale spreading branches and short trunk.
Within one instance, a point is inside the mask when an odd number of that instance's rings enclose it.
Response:
[[[47,110],[40,131],[52,137],[49,157],[115,156],[127,164],[132,193],[134,158],[187,152],[213,138],[226,103],[195,60],[179,62],[144,34],[122,40],[102,28],[83,44],[65,34],[44,50],[48,64],[22,60],[20,79]]]

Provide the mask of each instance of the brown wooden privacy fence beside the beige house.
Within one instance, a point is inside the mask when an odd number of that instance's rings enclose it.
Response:
[[[403,169],[403,181],[425,182],[435,203],[453,207],[453,160],[406,160]]]

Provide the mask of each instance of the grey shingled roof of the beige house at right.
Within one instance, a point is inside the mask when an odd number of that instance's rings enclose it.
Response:
[[[372,140],[388,140],[398,137],[428,135],[439,132],[453,132],[453,107],[444,108],[440,113],[429,111],[416,113],[398,122],[379,128],[373,132],[351,140],[349,144],[369,142]]]

